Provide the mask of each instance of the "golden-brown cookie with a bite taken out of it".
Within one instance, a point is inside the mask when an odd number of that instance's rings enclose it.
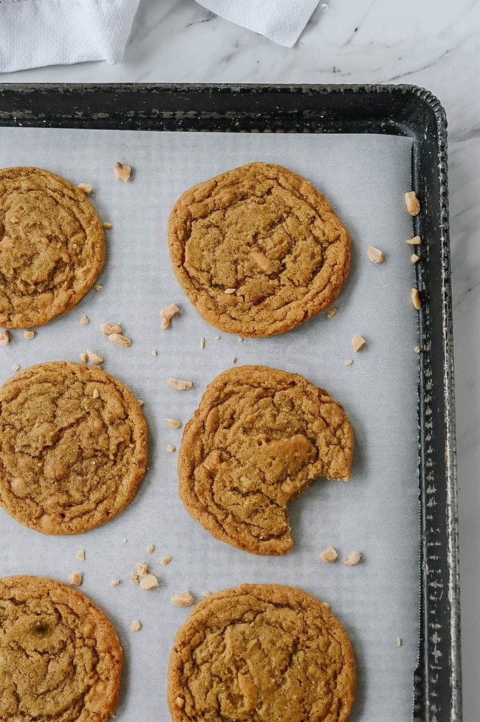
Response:
[[[254,554],[293,547],[287,504],[317,477],[348,479],[353,432],[340,404],[295,373],[223,371],[185,426],[179,495],[217,539]]]

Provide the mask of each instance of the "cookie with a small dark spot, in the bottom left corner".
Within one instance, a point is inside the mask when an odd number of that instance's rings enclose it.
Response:
[[[0,720],[107,722],[123,652],[91,599],[53,579],[0,578]]]

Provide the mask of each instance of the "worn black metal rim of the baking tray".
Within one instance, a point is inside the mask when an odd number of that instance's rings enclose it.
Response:
[[[461,719],[458,519],[445,113],[410,86],[4,85],[0,125],[376,133],[413,139],[419,313],[419,666],[414,722]]]

